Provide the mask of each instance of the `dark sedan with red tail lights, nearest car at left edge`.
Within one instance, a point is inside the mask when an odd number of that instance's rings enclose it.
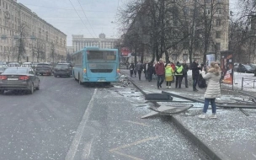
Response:
[[[30,94],[40,89],[40,79],[31,67],[8,67],[0,75],[0,94],[6,90],[27,90]]]

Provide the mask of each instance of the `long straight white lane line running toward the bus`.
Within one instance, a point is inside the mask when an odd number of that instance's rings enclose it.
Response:
[[[74,157],[77,153],[77,147],[80,143],[81,137],[83,136],[83,130],[85,128],[85,125],[88,122],[88,117],[90,115],[90,111],[91,111],[91,109],[93,109],[93,101],[94,101],[94,96],[95,96],[96,92],[97,92],[97,88],[94,90],[92,99],[90,100],[87,109],[84,111],[83,119],[81,120],[80,124],[78,125],[76,135],[72,141],[71,147],[69,147],[69,150],[67,152],[65,160],[74,159]]]

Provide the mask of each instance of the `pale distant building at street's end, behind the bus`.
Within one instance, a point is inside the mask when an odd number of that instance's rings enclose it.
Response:
[[[86,46],[98,46],[99,48],[115,48],[118,39],[108,39],[104,34],[99,38],[83,38],[83,35],[72,35],[74,51],[80,51]]]

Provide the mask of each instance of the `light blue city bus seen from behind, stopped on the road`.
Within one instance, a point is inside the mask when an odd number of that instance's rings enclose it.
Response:
[[[119,59],[117,49],[85,47],[73,55],[72,75],[79,84],[119,82]]]

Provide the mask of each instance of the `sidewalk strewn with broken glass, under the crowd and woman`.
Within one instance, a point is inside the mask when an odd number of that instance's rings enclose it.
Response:
[[[127,75],[145,93],[161,93],[163,90],[192,99],[204,99],[205,88],[198,88],[199,91],[194,92],[191,75],[189,75],[189,88],[184,87],[183,81],[181,88],[175,88],[174,83],[172,88],[166,88],[164,82],[163,88],[157,89],[157,81],[147,82],[144,73],[141,75],[141,81],[138,77],[130,77],[129,70],[121,70],[121,73]],[[235,102],[232,99],[247,99],[247,97],[224,87],[221,88],[221,99],[216,101]],[[172,103],[168,103],[170,104]],[[200,115],[202,108],[203,104],[195,103],[188,112],[173,115],[173,123],[212,159],[256,159],[256,109],[243,109],[248,116],[239,109],[217,109],[216,120],[200,120],[197,116]],[[207,114],[211,114],[211,109],[208,109]]]

